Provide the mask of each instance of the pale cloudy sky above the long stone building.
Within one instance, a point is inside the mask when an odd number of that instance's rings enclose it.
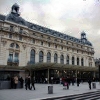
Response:
[[[79,39],[84,31],[100,58],[100,0],[0,0],[0,14],[9,14],[15,3],[26,21]]]

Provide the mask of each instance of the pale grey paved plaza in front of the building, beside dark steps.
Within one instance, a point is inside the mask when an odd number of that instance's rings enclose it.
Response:
[[[47,97],[60,97],[85,92],[96,91],[100,89],[99,82],[96,83],[96,89],[89,89],[88,83],[81,83],[79,87],[75,84],[70,85],[69,90],[64,90],[60,84],[53,84],[53,94],[48,94],[48,86],[51,84],[35,84],[36,90],[23,89],[4,89],[0,90],[0,100],[40,100]]]

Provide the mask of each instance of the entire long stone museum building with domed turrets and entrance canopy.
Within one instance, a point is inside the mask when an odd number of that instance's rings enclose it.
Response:
[[[80,39],[36,25],[20,17],[15,3],[0,15],[0,79],[29,73],[36,82],[61,77],[97,77],[94,48],[86,33]]]

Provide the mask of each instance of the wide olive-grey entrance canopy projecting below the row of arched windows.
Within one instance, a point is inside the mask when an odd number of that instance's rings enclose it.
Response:
[[[33,65],[25,66],[27,70],[42,70],[42,69],[58,69],[58,70],[78,70],[78,71],[98,71],[97,67],[77,66],[58,63],[36,63]]]

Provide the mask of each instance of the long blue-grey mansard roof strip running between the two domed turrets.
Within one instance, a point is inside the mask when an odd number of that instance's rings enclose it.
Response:
[[[55,36],[55,37],[58,37],[58,38],[61,38],[61,39],[64,39],[64,40],[70,40],[72,42],[76,42],[76,43],[79,43],[79,44],[92,46],[92,44],[88,40],[83,42],[81,39],[78,39],[78,38],[66,35],[64,33],[61,33],[61,32],[58,32],[58,31],[55,31],[55,30],[34,24],[34,23],[30,23],[28,21],[25,21],[23,18],[21,18],[19,16],[17,16],[17,19],[15,19],[15,17],[12,17],[11,14],[7,15],[7,16],[0,15],[0,20],[3,20],[3,21],[8,20],[8,21],[11,21],[11,22],[14,22],[14,23],[17,23],[17,24],[27,26],[28,28],[30,28],[32,30],[41,32],[41,34],[45,33],[45,34],[52,35],[52,36]]]

